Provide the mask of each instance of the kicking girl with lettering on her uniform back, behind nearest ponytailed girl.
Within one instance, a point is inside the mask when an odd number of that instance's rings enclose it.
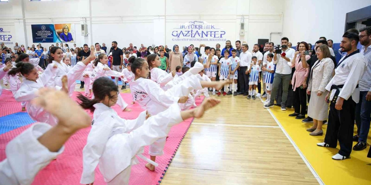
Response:
[[[156,115],[166,110],[174,103],[185,103],[188,99],[188,94],[190,94],[193,89],[200,90],[204,87],[221,89],[223,85],[227,83],[200,82],[195,75],[189,75],[188,78],[180,81],[180,83],[174,85],[174,87],[164,91],[159,84],[147,79],[150,72],[147,61],[143,58],[132,59],[133,58],[129,58],[129,62],[132,63],[131,69],[135,72],[135,78],[130,84],[131,94],[135,101],[144,109],[147,109],[151,115]],[[166,134],[169,131],[170,127],[165,129]],[[162,149],[164,148],[165,141],[166,137],[162,137],[150,146],[149,154],[151,155],[152,161],[155,161],[156,156],[163,154]],[[148,163],[146,167],[151,171],[155,170],[155,166],[150,163]]]

